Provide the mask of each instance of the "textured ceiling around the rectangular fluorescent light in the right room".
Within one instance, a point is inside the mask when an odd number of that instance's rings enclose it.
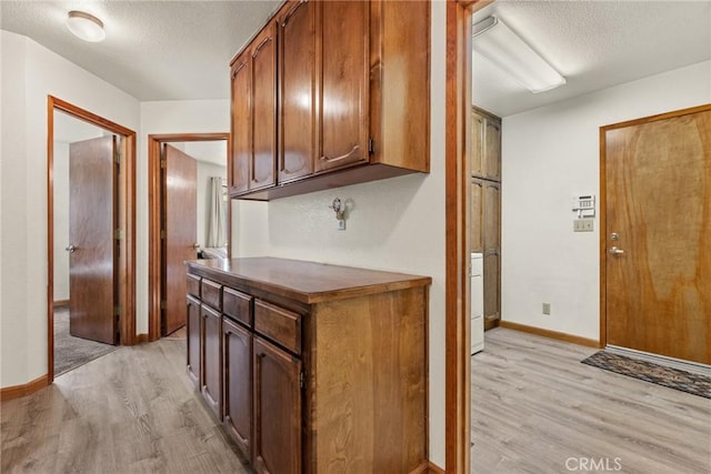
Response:
[[[709,0],[498,0],[474,22],[490,14],[568,79],[533,94],[474,52],[473,102],[500,117],[711,59]]]

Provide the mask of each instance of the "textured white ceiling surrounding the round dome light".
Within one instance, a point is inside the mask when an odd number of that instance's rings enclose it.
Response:
[[[141,101],[227,99],[229,62],[280,1],[0,1],[0,27],[23,34]],[[100,18],[88,43],[67,12]]]

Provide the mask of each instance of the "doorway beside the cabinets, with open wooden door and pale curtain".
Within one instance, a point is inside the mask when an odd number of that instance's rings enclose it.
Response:
[[[228,150],[229,133],[148,137],[149,341],[184,331],[182,262],[230,255]]]

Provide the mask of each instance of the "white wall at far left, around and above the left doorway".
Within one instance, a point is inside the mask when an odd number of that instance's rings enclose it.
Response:
[[[34,41],[1,32],[0,385],[47,373],[47,95],[139,130],[139,102]]]

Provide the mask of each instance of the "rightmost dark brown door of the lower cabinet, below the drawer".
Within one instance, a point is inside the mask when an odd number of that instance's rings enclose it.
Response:
[[[254,470],[301,473],[301,361],[254,337]]]

